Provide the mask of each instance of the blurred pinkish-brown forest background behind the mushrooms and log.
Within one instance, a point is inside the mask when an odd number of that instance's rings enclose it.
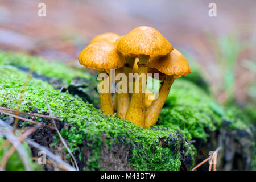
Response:
[[[38,4],[46,4],[46,17]],[[209,3],[217,16],[210,17]],[[0,50],[79,67],[77,57],[104,32],[152,26],[199,71],[221,103],[256,101],[256,1],[0,0]]]

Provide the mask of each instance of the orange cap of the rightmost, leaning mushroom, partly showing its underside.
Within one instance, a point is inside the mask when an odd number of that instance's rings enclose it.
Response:
[[[165,56],[152,55],[148,67],[158,69],[165,75],[185,76],[191,73],[188,62],[177,49],[173,49]]]

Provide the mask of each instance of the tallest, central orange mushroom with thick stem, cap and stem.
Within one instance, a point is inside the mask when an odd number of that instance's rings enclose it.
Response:
[[[138,75],[135,85],[139,85],[139,93],[133,93],[125,119],[144,126],[145,123],[145,89],[149,55],[166,55],[172,51],[172,46],[158,30],[152,27],[137,27],[124,35],[118,42],[117,48],[121,52],[139,57]]]

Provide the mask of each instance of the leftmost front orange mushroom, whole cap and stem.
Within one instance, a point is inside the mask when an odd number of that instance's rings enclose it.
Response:
[[[110,82],[110,79],[106,71],[109,71],[110,69],[117,69],[125,65],[125,57],[123,57],[122,53],[119,52],[113,44],[107,42],[89,44],[84,50],[82,50],[78,60],[79,63],[84,65],[86,68],[98,69],[98,74],[105,73],[106,77],[104,80],[108,79],[108,83]],[[99,84],[102,81],[103,80],[99,80]],[[106,85],[109,86],[109,84]],[[109,89],[107,92],[102,92],[102,90],[100,90],[100,106],[101,110],[103,110],[105,114],[114,114]]]

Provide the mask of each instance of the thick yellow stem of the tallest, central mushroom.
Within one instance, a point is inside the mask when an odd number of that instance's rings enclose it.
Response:
[[[145,89],[147,82],[147,64],[149,56],[140,55],[139,56],[139,68],[138,68],[138,78],[135,81],[135,87],[139,86],[139,90],[135,89],[135,92],[131,96],[131,102],[128,107],[125,119],[134,122],[138,126],[145,125]],[[144,77],[144,78],[143,78]],[[136,93],[136,90],[139,93]]]

